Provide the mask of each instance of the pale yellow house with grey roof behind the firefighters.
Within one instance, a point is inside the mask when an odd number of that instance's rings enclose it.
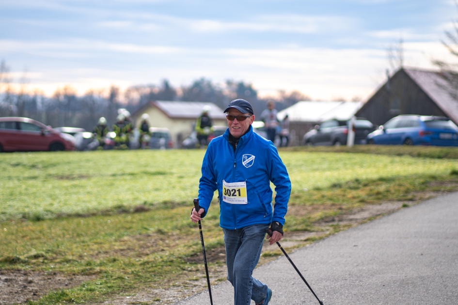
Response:
[[[209,116],[213,125],[227,126],[223,110],[213,103],[206,102],[150,101],[132,113],[132,120],[135,126],[139,127],[142,114],[147,113],[150,127],[169,129],[174,146],[180,147],[181,142],[192,132],[204,106],[210,107]]]

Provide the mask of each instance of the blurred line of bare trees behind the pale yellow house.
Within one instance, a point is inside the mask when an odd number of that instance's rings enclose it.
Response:
[[[0,63],[0,117],[27,117],[53,127],[70,126],[92,130],[100,117],[110,124],[115,122],[117,109],[130,112],[149,101],[211,102],[224,109],[230,101],[243,98],[253,105],[254,114],[260,115],[268,100],[274,100],[277,110],[310,98],[298,91],[279,91],[275,97],[258,96],[251,83],[227,80],[216,84],[204,77],[190,85],[172,86],[168,80],[160,84],[138,85],[121,92],[116,86],[107,90],[89,90],[78,96],[71,86],[57,89],[51,97],[38,91],[26,90],[27,79],[19,79],[16,89],[12,86],[10,68],[5,61]],[[154,122],[152,122],[154,124]]]

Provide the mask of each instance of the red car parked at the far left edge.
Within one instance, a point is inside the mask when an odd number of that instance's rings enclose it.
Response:
[[[28,118],[0,118],[0,152],[73,151],[75,138]]]

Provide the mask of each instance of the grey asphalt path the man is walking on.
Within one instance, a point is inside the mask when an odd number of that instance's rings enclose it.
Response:
[[[340,232],[290,257],[325,305],[457,305],[458,192]],[[253,275],[272,289],[269,305],[318,305],[284,257]],[[234,302],[229,282],[212,287],[212,295],[214,305]],[[203,304],[210,304],[208,290],[177,303]]]

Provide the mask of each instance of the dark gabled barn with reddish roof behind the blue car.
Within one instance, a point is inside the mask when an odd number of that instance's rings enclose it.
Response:
[[[456,90],[441,72],[401,68],[356,113],[376,125],[400,114],[436,115],[458,124]]]

